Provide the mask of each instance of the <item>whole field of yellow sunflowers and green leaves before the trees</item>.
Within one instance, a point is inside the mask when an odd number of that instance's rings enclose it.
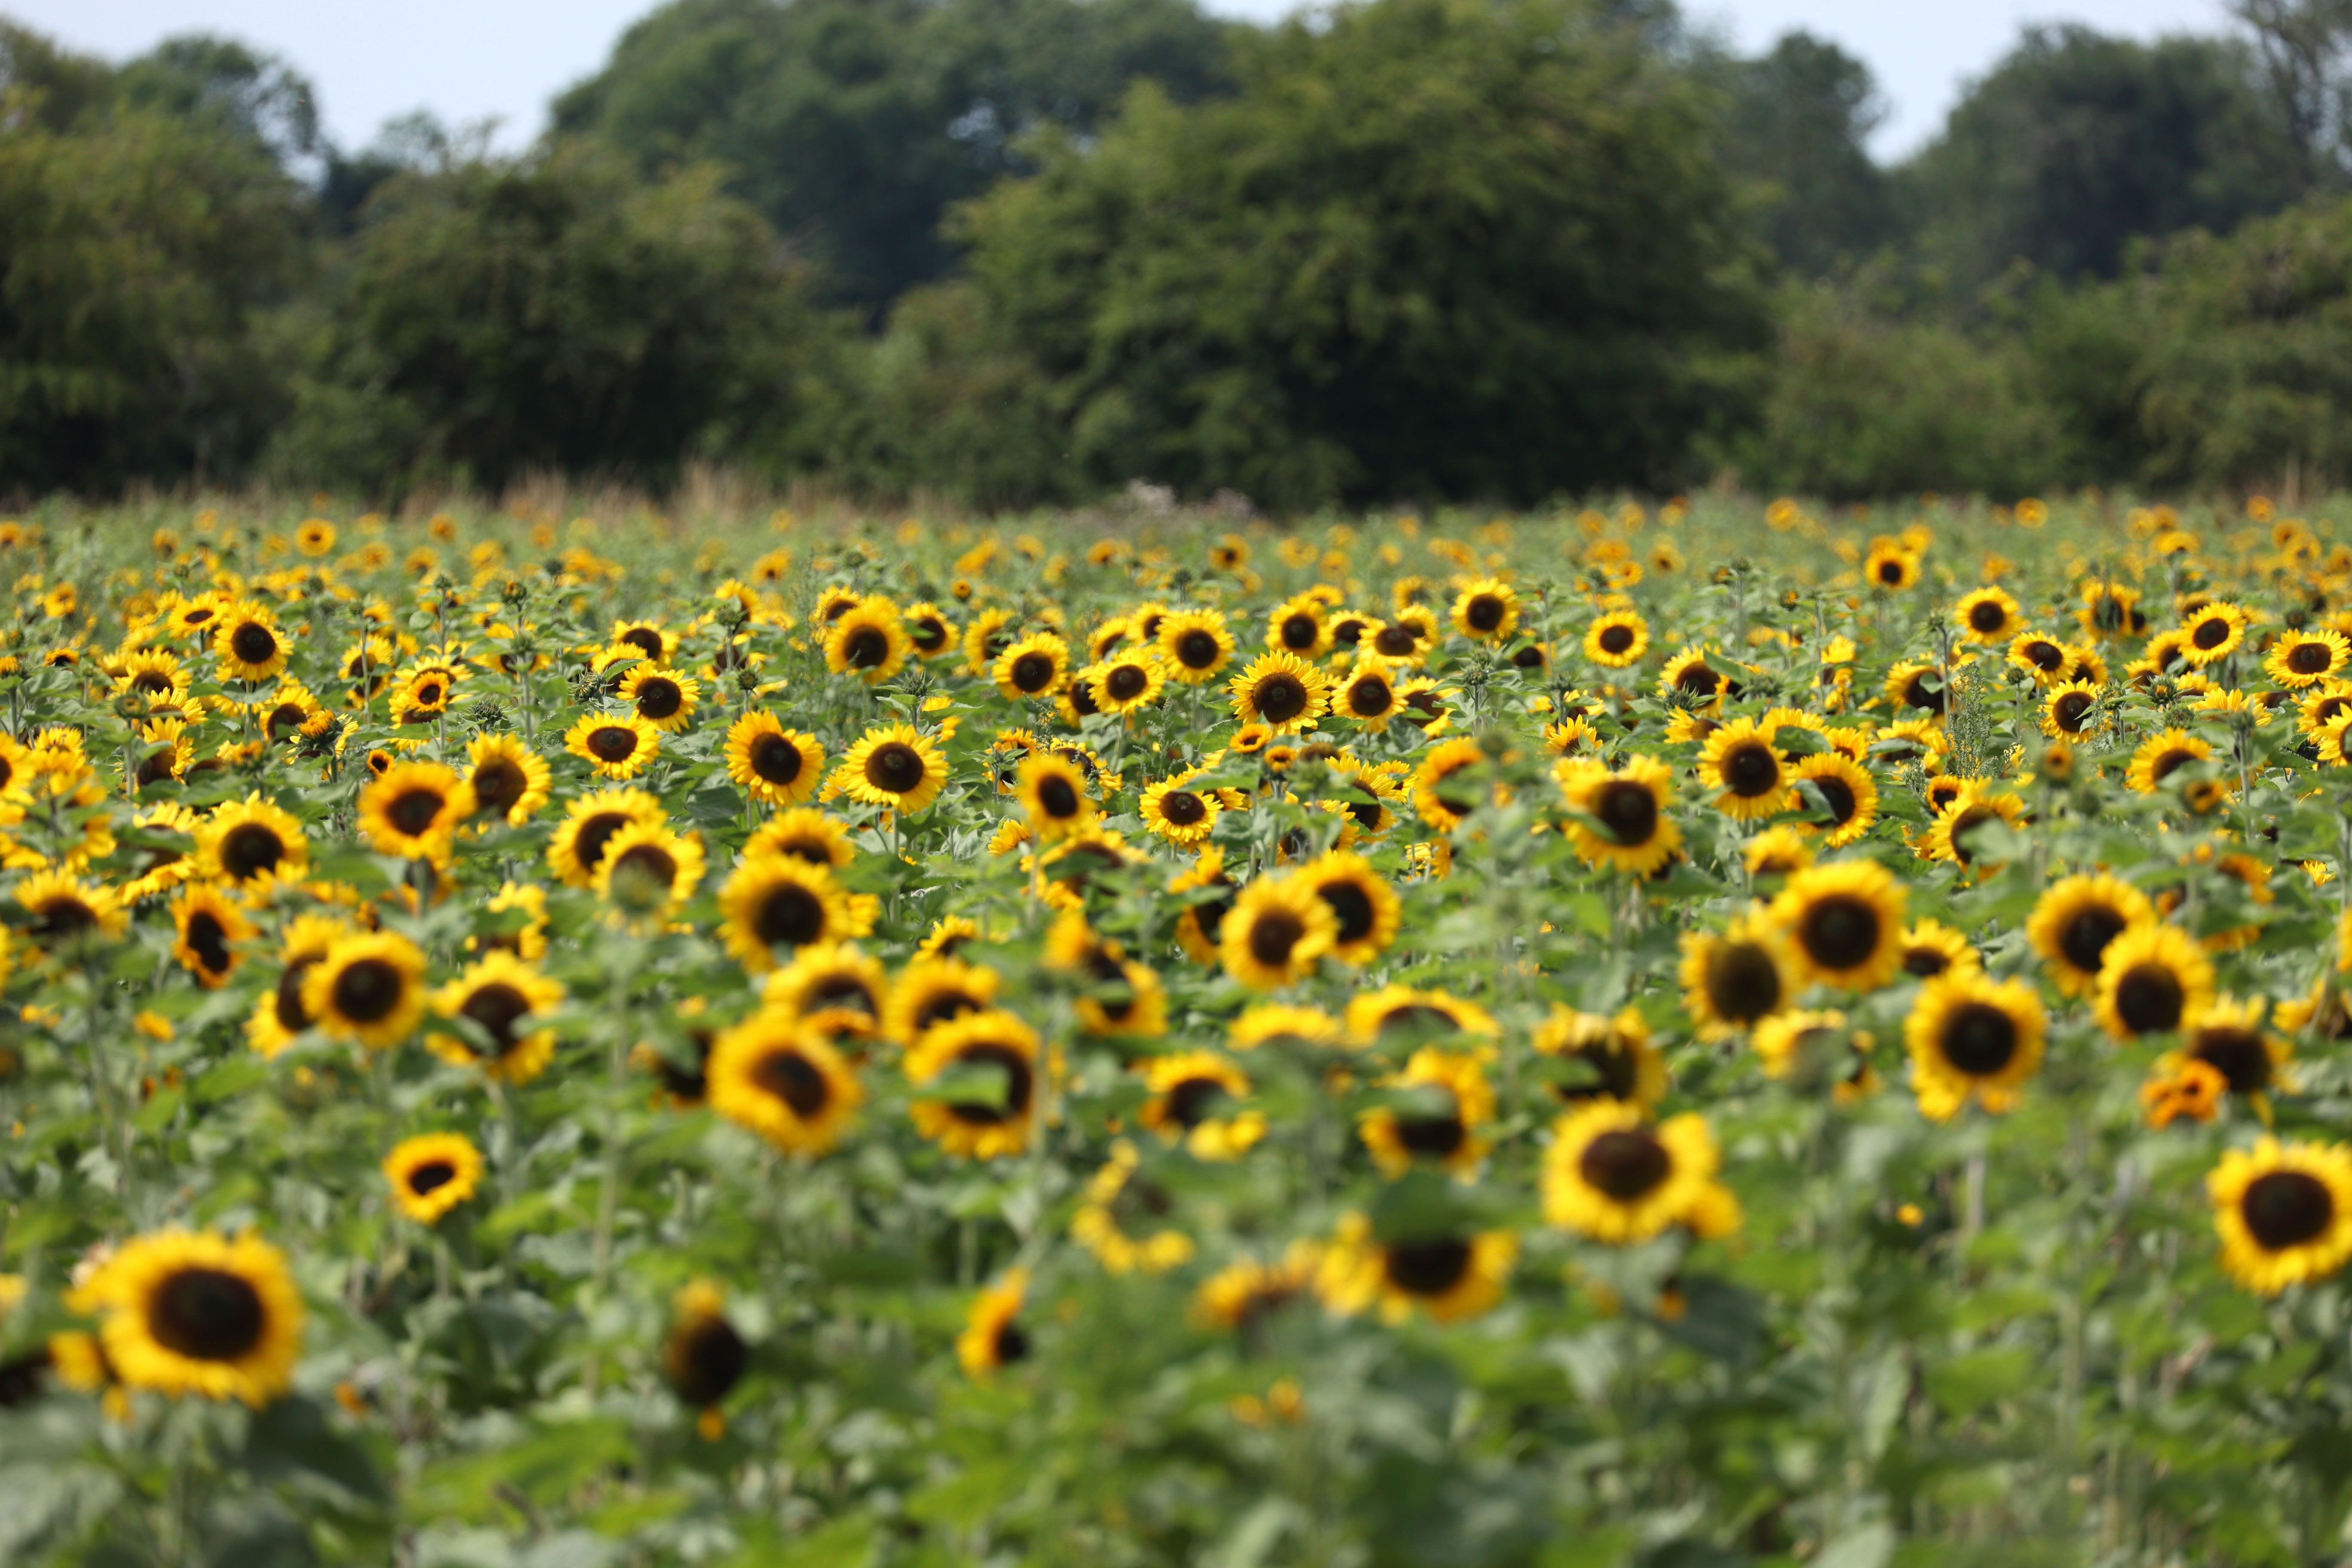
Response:
[[[2324,520],[0,567],[5,1563],[2345,1561]]]

